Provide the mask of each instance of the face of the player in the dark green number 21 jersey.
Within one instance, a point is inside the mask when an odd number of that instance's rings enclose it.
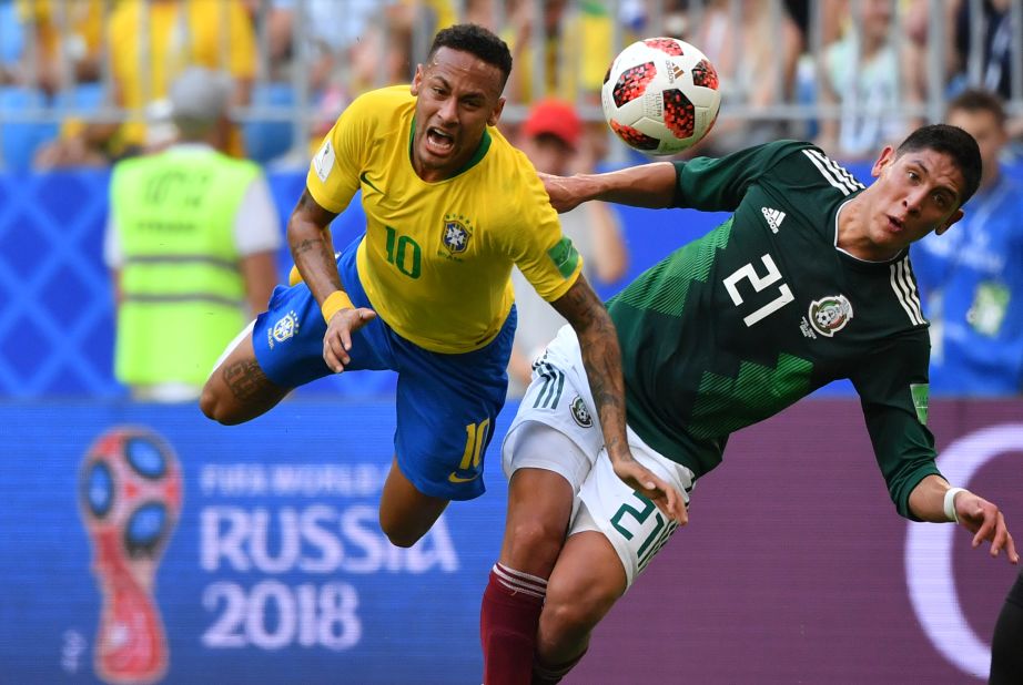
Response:
[[[874,258],[893,257],[910,243],[944,233],[963,212],[965,178],[952,159],[933,150],[895,156],[884,149],[871,172],[878,177],[867,239]]]

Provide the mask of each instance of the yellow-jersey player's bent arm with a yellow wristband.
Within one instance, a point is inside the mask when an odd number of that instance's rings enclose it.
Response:
[[[373,309],[354,307],[341,286],[328,226],[334,217],[306,188],[287,221],[287,244],[302,279],[320,303],[327,321],[323,360],[335,374],[351,361],[352,334],[376,317]]]

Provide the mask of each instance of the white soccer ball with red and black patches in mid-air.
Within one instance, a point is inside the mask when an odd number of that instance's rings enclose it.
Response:
[[[611,130],[650,155],[697,144],[721,105],[713,64],[676,38],[647,38],[622,50],[604,78],[600,95]]]

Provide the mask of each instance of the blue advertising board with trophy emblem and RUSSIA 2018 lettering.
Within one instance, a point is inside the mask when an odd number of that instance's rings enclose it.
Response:
[[[191,405],[0,413],[0,682],[480,682],[496,443],[488,492],[398,549],[377,522],[393,403],[231,428]]]

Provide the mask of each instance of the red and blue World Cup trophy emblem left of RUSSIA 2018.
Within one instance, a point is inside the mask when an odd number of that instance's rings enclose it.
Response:
[[[153,589],[181,497],[178,459],[152,431],[113,428],[85,454],[79,498],[103,597],[94,663],[108,683],[152,683],[166,671]]]

